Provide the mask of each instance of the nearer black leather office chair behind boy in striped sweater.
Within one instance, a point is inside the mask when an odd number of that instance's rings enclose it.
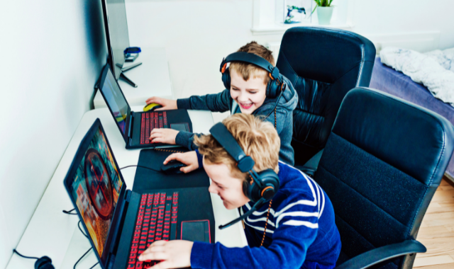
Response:
[[[369,88],[347,93],[314,176],[336,213],[339,269],[412,267],[453,149],[440,115]]]

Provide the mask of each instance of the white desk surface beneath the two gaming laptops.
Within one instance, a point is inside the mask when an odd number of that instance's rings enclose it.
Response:
[[[132,109],[138,111],[142,108],[142,106],[135,106]],[[192,120],[194,132],[209,133],[209,128],[214,124],[211,112],[189,110],[189,116]],[[63,185],[63,180],[70,168],[82,137],[87,133],[96,118],[101,120],[118,166],[138,164],[140,149],[125,149],[125,142],[107,108],[90,110],[85,113],[17,246],[18,251],[26,256],[49,256],[57,269],[73,268],[74,263],[90,248],[89,241],[85,239],[77,228],[79,218],[62,213],[62,210],[71,210],[73,208]],[[135,168],[123,169],[121,173],[128,189],[131,190]],[[222,231],[218,229],[219,224],[226,224],[238,217],[238,211],[226,210],[218,195],[211,195],[211,200],[216,221],[216,241],[221,242],[225,246],[246,246],[247,241],[240,222]],[[79,262],[77,268],[90,268],[96,262],[94,252],[90,251]],[[6,268],[33,268],[34,263],[35,260],[21,258],[14,254]],[[100,268],[100,266],[96,265],[95,268]]]

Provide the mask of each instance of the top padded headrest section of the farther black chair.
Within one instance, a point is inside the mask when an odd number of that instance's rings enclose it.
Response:
[[[344,54],[353,55],[345,59]],[[374,62],[375,46],[367,38],[346,30],[294,27],[284,33],[283,55],[299,76],[333,83],[362,62]]]

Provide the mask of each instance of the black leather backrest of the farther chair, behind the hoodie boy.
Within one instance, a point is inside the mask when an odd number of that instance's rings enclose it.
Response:
[[[368,87],[375,46],[346,30],[295,27],[284,33],[277,68],[296,89],[292,147],[295,165],[323,149],[342,99],[356,86]]]

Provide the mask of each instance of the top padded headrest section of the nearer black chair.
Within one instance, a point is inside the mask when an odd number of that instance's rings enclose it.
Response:
[[[426,185],[440,183],[454,150],[448,120],[371,88],[347,93],[332,132]]]

